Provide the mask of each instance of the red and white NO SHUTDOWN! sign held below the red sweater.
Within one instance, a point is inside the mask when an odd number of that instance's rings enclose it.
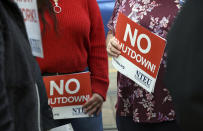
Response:
[[[90,72],[44,76],[54,119],[88,117],[82,105],[92,96]]]

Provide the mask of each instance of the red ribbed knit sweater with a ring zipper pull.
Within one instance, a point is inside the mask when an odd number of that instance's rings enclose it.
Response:
[[[108,58],[101,14],[96,0],[59,0],[57,33],[48,12],[42,35],[44,59],[37,58],[42,73],[71,73],[89,67],[93,93],[106,98]],[[41,21],[41,28],[42,27]]]

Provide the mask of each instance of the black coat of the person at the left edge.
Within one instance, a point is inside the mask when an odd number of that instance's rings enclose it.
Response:
[[[21,13],[11,0],[0,0],[0,130],[40,131],[52,126]]]

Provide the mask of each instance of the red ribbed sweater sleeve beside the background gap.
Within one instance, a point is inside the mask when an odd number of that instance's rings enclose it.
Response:
[[[91,72],[93,93],[100,94],[104,100],[109,85],[108,56],[102,17],[96,0],[87,0],[91,22],[90,50],[88,64]]]

